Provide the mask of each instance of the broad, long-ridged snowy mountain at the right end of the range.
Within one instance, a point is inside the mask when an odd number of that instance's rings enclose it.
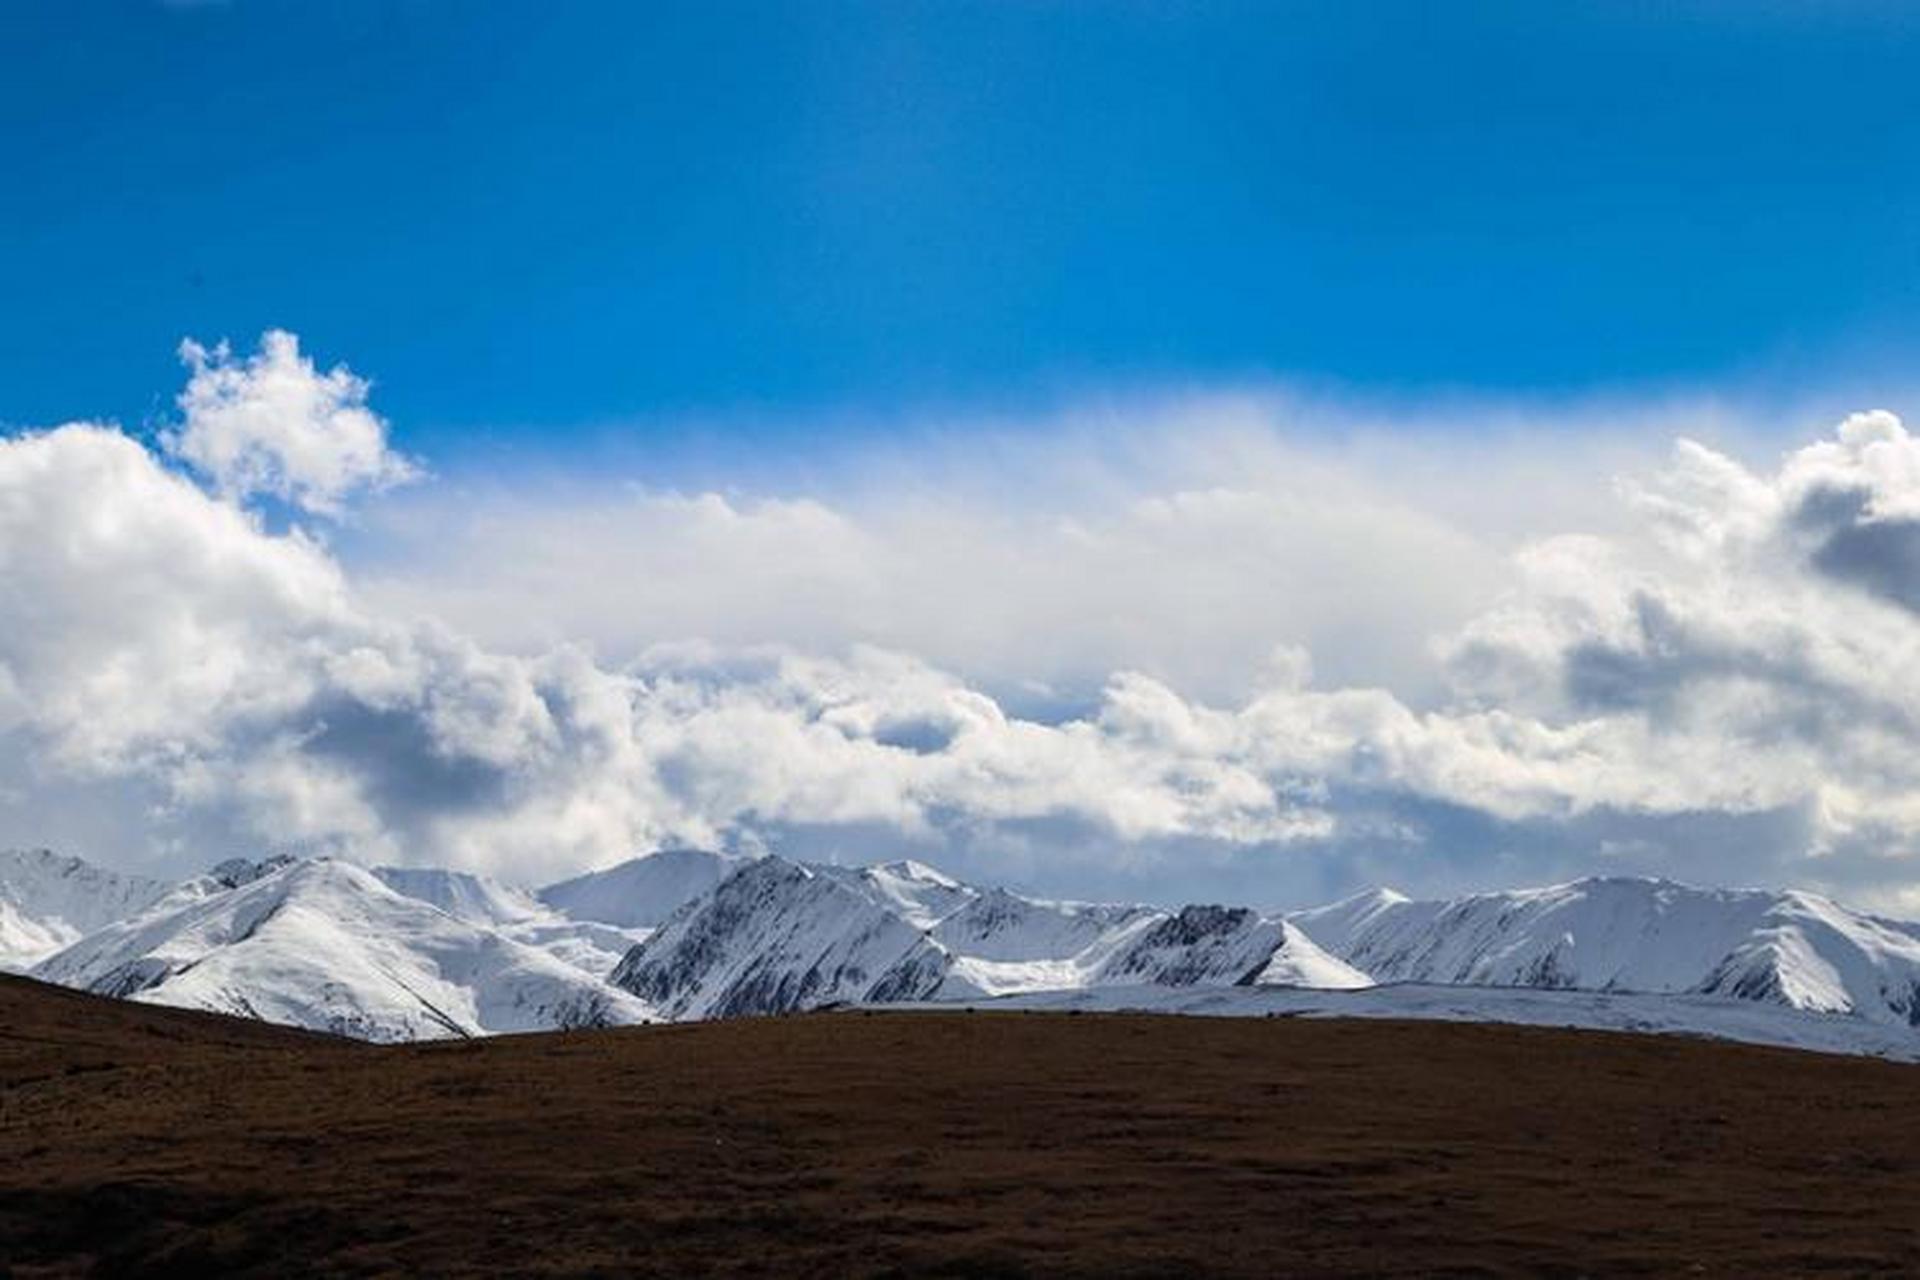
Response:
[[[1288,917],[1380,983],[1693,992],[1920,1027],[1920,925],[1809,892],[1596,877]]]

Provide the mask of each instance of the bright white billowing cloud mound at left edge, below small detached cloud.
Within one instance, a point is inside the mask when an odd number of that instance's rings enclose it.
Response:
[[[305,699],[292,662],[349,618],[340,568],[267,537],[113,428],[0,441],[6,723],[75,768],[131,768]]]

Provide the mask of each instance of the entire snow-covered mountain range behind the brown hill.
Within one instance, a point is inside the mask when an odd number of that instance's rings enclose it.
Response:
[[[1263,913],[701,850],[541,889],[332,858],[169,885],[29,850],[0,854],[0,967],[371,1040],[935,1002],[1557,1019],[1920,1055],[1920,925],[1628,877]]]

